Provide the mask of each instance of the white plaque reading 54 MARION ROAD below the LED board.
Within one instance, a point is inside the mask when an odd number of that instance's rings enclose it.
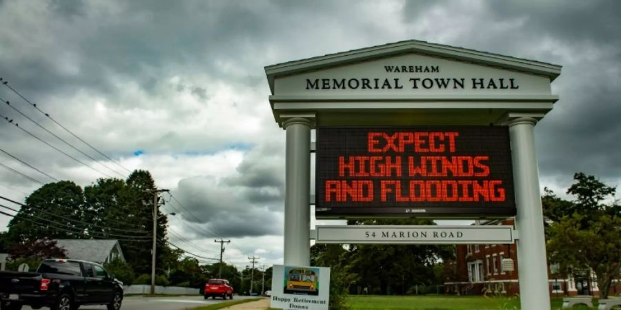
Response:
[[[507,244],[513,226],[317,226],[317,243]]]

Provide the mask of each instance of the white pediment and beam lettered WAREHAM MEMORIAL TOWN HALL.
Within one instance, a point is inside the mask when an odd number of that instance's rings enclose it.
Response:
[[[317,125],[497,123],[546,114],[561,67],[424,41],[403,41],[265,68],[275,120]],[[300,114],[302,113],[302,114]],[[373,115],[373,117],[369,117]],[[304,116],[307,117],[307,116]]]

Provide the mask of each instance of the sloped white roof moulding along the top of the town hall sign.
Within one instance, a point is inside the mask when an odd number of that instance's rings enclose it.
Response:
[[[491,65],[509,70],[549,76],[550,81],[554,81],[554,79],[560,75],[561,70],[560,65],[544,63],[541,61],[481,52],[467,48],[458,48],[450,45],[428,43],[426,41],[408,40],[372,46],[370,48],[349,50],[347,52],[326,54],[324,56],[317,56],[297,61],[288,61],[286,63],[278,63],[276,65],[268,65],[265,67],[265,73],[268,77],[270,90],[272,94],[274,94],[274,79],[277,76],[322,70],[324,68],[334,67],[337,65],[346,65],[406,53],[426,54],[429,56],[438,56],[447,59],[455,59],[457,61],[467,61],[481,65]]]

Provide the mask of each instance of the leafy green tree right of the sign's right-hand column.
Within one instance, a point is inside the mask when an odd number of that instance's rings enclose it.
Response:
[[[552,212],[555,222],[548,229],[549,258],[559,264],[562,273],[571,273],[577,268],[593,270],[598,278],[600,297],[608,298],[621,262],[620,208],[615,202],[604,203],[613,198],[615,188],[582,173],[575,174],[574,180],[567,190],[567,194],[576,197],[572,202],[562,202],[551,192],[548,194],[548,200],[555,204],[547,209],[557,208]],[[560,206],[565,207],[558,209]]]

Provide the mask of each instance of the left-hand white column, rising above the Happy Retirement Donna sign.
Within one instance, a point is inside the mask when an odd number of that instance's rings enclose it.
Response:
[[[285,164],[284,264],[311,265],[311,127],[308,118],[283,122]]]

